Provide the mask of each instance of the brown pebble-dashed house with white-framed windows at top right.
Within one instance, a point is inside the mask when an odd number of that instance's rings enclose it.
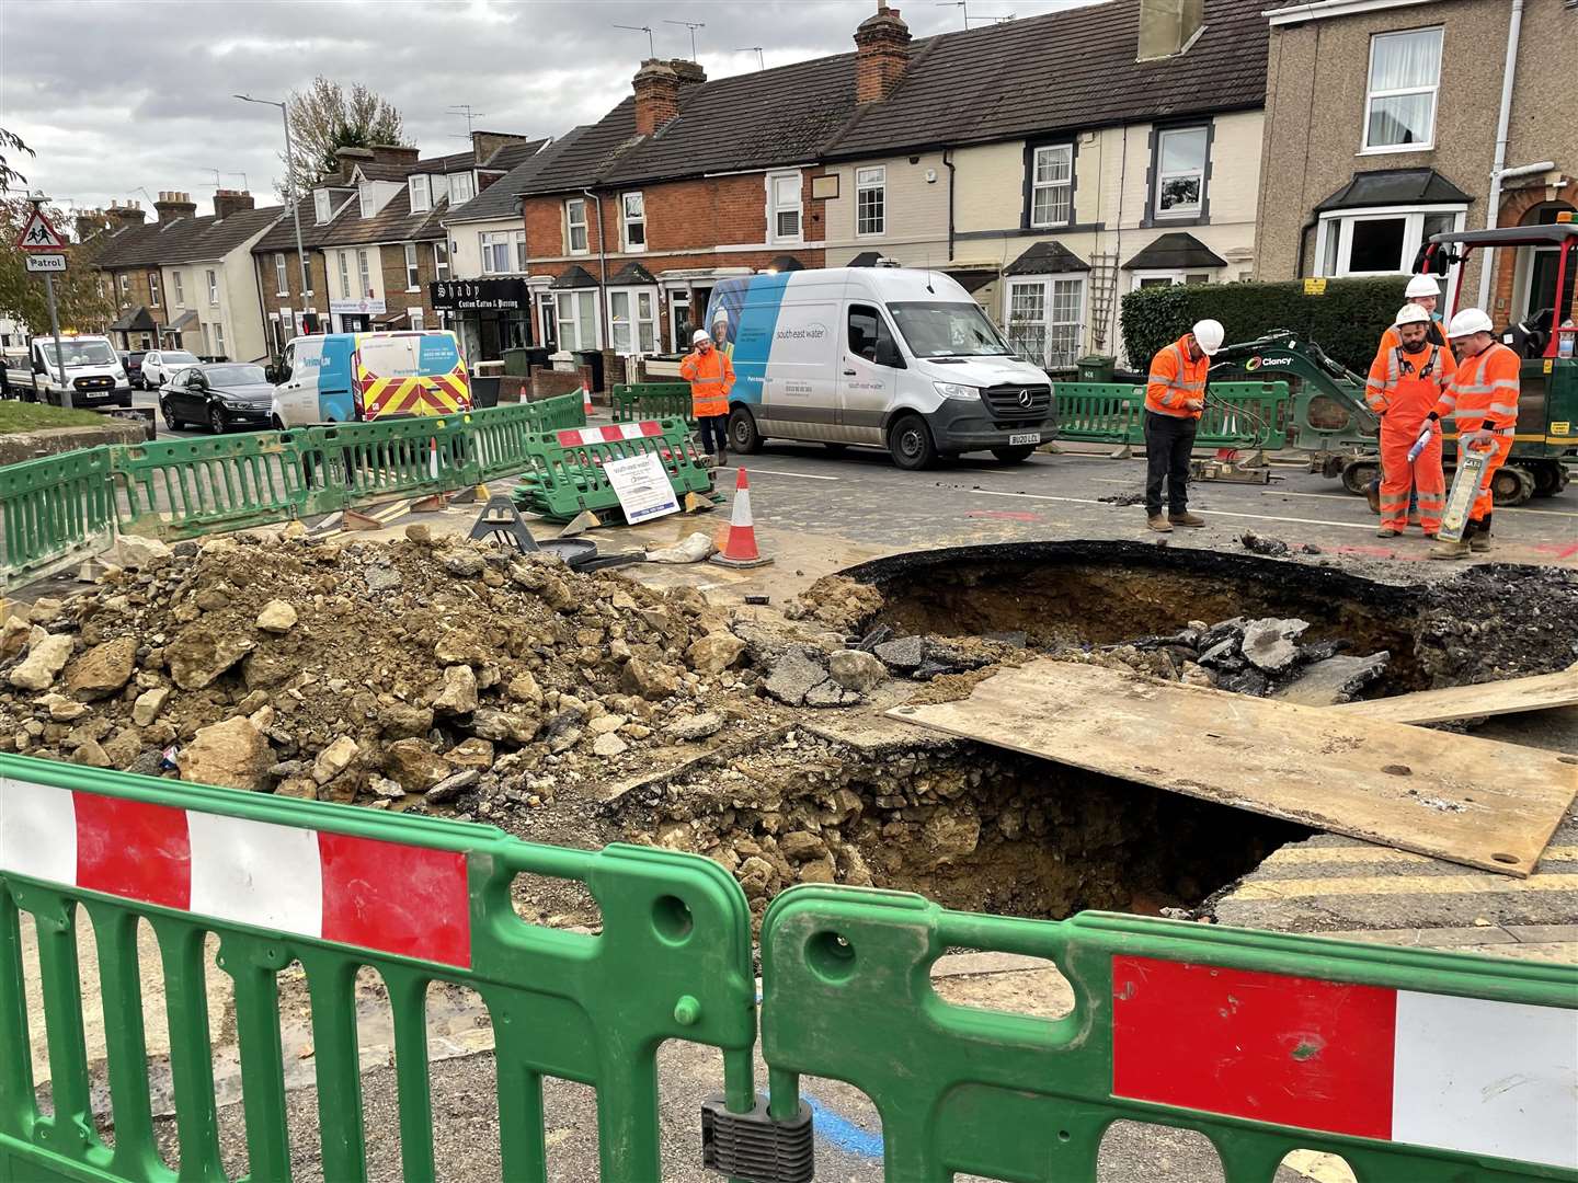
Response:
[[[1483,0],[1327,0],[1267,13],[1261,279],[1408,271],[1431,233],[1578,208],[1578,6],[1529,0],[1512,46],[1510,172],[1491,210],[1510,13]],[[1498,323],[1551,304],[1553,252],[1494,251],[1482,281],[1486,254],[1468,263],[1463,303],[1483,293]]]

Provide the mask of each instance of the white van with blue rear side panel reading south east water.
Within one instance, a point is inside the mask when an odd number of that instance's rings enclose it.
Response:
[[[816,440],[887,448],[901,468],[1053,435],[1053,383],[940,271],[838,267],[724,279],[707,323],[734,361],[729,446]]]

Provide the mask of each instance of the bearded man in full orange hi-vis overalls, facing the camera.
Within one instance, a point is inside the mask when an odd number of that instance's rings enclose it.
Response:
[[[1387,334],[1397,341],[1370,364],[1365,402],[1381,416],[1381,538],[1408,528],[1409,492],[1419,494],[1427,538],[1441,530],[1447,478],[1441,472],[1442,394],[1456,371],[1452,350],[1430,341],[1430,312],[1403,304]]]

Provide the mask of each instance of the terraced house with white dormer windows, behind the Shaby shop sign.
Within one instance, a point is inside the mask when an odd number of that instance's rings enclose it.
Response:
[[[308,290],[290,218],[252,246],[271,350],[301,333],[443,323],[431,301],[431,284],[451,274],[443,218],[538,147],[541,140],[478,131],[469,151],[448,156],[423,158],[398,145],[341,148],[339,169],[298,207]]]

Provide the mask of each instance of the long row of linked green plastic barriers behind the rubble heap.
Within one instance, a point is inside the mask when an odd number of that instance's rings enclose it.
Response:
[[[0,588],[101,549],[286,522],[521,472],[529,442],[585,423],[579,394],[432,418],[104,445],[0,468]]]

